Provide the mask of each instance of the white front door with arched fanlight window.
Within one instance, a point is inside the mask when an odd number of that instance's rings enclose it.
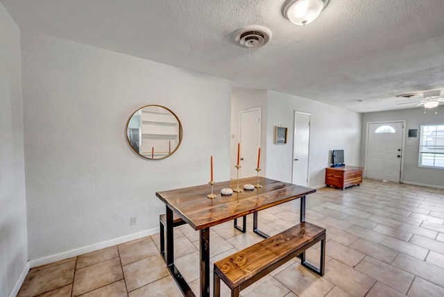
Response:
[[[366,176],[399,183],[404,122],[368,124]]]

